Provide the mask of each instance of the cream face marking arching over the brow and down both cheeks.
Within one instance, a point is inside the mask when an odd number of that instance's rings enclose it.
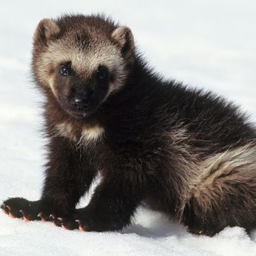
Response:
[[[90,78],[99,65],[106,66],[115,76],[115,81],[110,84],[107,95],[122,87],[127,78],[124,58],[118,48],[109,41],[91,42],[90,47],[81,50],[75,45],[73,38],[62,38],[58,41],[51,41],[47,51],[42,53],[36,62],[36,70],[39,70],[38,79],[43,84],[47,84],[55,96],[54,74],[50,71],[57,69],[60,64],[67,61],[71,61],[75,74],[84,80]]]

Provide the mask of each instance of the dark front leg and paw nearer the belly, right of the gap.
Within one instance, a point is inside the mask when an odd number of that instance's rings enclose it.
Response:
[[[130,174],[132,172],[134,171]],[[118,230],[127,226],[141,203],[143,188],[138,177],[130,180],[122,177],[124,174],[120,177],[116,175],[103,179],[95,189],[89,205],[75,210],[71,219],[63,218],[62,226],[76,229],[78,223],[80,230],[97,232]]]

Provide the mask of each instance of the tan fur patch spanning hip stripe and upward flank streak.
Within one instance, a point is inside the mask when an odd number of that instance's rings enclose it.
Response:
[[[182,127],[182,126],[181,126]],[[181,220],[183,210],[191,198],[195,198],[201,209],[212,209],[220,201],[228,200],[229,195],[238,195],[238,185],[243,187],[244,200],[256,196],[256,146],[255,143],[229,149],[223,153],[201,160],[196,153],[192,153],[194,136],[189,135],[186,126],[177,127],[169,134],[172,159],[178,171],[171,177],[172,186],[178,198],[175,208],[175,218]],[[190,143],[189,143],[190,142]],[[250,187],[248,187],[250,186]],[[254,198],[254,199],[253,199]]]

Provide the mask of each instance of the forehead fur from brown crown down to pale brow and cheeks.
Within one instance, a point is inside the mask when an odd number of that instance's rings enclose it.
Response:
[[[50,41],[46,50],[36,54],[39,81],[50,85],[53,70],[68,61],[81,79],[90,78],[98,65],[105,65],[115,74],[113,90],[124,81],[124,58],[111,41],[116,28],[112,21],[99,16],[65,16],[55,22],[61,28],[60,35]]]

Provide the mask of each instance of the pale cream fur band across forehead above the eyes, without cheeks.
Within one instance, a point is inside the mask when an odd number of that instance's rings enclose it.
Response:
[[[98,65],[104,64],[111,71],[118,71],[124,65],[124,60],[118,49],[104,38],[90,37],[86,45],[79,45],[76,35],[68,35],[57,41],[51,42],[48,50],[41,55],[40,64],[44,67],[71,61],[76,75],[81,78],[89,77],[97,69]]]

